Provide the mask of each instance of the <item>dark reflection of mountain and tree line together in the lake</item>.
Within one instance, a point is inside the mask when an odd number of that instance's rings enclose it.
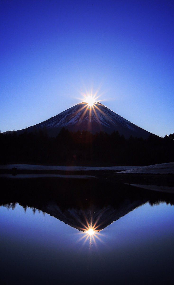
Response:
[[[19,203],[47,213],[80,231],[101,231],[146,202],[174,204],[174,194],[142,190],[102,179],[3,179],[0,205]]]

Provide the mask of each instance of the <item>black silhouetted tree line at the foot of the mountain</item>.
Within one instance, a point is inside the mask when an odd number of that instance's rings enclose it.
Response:
[[[0,133],[1,164],[47,163],[59,165],[150,165],[174,161],[174,133],[164,138],[150,135],[148,139],[130,136],[125,139],[118,131],[91,134],[61,129],[49,137],[40,129],[20,135]]]

